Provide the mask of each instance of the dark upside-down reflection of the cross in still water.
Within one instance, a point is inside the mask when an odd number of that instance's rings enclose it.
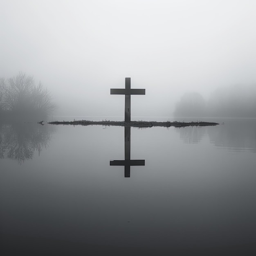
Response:
[[[124,177],[130,177],[130,166],[145,165],[145,160],[130,159],[130,150],[131,150],[130,135],[131,135],[130,126],[125,126],[124,127],[124,160],[110,161],[110,165],[124,166]]]

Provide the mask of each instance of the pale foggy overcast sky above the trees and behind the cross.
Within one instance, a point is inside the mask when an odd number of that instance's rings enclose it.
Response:
[[[184,92],[256,83],[255,0],[1,0],[0,77],[33,75],[62,115],[171,116]]]

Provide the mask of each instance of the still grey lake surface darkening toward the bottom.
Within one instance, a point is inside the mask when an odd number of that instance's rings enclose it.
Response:
[[[256,119],[211,121],[0,124],[1,255],[254,255]]]

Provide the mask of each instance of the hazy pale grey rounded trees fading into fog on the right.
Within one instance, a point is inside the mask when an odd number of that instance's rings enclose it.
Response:
[[[176,104],[175,117],[256,117],[256,86],[218,88],[206,101],[198,92],[185,93]]]

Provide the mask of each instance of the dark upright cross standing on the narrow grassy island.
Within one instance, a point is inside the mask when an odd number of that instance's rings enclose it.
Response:
[[[131,121],[131,94],[145,95],[145,89],[131,89],[131,79],[126,77],[125,89],[110,89],[110,94],[125,94],[124,121]]]

